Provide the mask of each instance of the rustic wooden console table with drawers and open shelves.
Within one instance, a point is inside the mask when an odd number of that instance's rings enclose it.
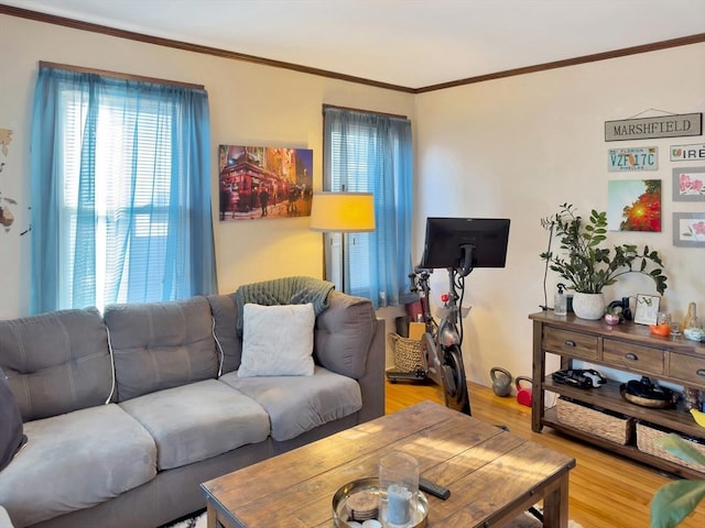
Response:
[[[654,336],[648,326],[633,322],[609,327],[603,320],[588,321],[572,314],[554,316],[552,311],[532,314],[529,318],[533,321],[531,426],[535,432],[549,426],[671,473],[691,479],[705,476],[705,473],[647,454],[636,446],[620,446],[570,427],[558,421],[555,408],[544,408],[544,394],[550,391],[684,436],[705,438],[705,429],[697,426],[680,405],[675,409],[640,407],[621,397],[619,382],[610,380],[599,388],[581,389],[554,383],[551,373],[546,373],[546,354],[555,354],[561,358],[561,369],[572,369],[573,361],[581,360],[634,374],[633,378],[649,376],[652,381],[705,389],[705,343],[683,337]]]

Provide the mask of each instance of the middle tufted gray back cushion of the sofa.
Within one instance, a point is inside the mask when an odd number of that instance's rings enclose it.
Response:
[[[118,402],[217,376],[218,353],[205,297],[111,305],[104,317]]]

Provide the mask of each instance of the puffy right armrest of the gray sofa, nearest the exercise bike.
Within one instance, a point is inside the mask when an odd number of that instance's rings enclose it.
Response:
[[[332,292],[316,319],[316,361],[360,384],[360,422],[384,414],[384,321],[369,299]]]

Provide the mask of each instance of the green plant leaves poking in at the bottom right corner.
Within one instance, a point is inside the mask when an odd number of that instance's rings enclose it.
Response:
[[[655,441],[661,448],[682,460],[705,465],[705,455],[674,433]],[[651,501],[651,528],[679,526],[705,498],[705,481],[679,480],[663,485]]]

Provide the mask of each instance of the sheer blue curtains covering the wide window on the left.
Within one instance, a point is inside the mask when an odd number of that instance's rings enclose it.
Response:
[[[40,67],[32,312],[217,292],[203,89]]]

